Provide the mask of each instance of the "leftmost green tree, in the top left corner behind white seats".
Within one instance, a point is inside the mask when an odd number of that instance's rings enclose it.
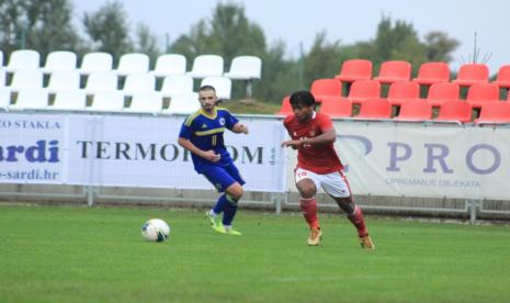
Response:
[[[53,50],[75,50],[80,38],[67,0],[0,1],[0,49],[32,48],[43,58]]]

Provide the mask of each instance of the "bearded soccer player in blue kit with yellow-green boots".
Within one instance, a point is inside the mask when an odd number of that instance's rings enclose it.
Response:
[[[245,180],[225,148],[223,134],[225,130],[248,134],[248,127],[226,109],[216,106],[218,99],[214,87],[201,87],[199,101],[201,109],[186,117],[178,143],[191,152],[196,172],[207,178],[218,192],[224,193],[206,213],[211,227],[220,234],[241,235],[231,226],[237,203],[242,197]]]

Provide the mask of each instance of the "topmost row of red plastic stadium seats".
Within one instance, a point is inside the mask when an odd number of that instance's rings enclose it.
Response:
[[[411,79],[411,64],[405,60],[388,60],[381,65],[378,75],[372,76],[373,64],[367,59],[350,59],[342,63],[340,72],[335,79],[342,82],[354,82],[358,80],[376,80],[381,83],[393,83],[396,81],[415,81],[419,85],[430,86],[437,82],[450,82],[450,66],[442,61],[430,61],[420,65],[418,76]],[[489,68],[485,64],[464,64],[453,82],[462,87],[474,83],[489,82]],[[500,88],[510,88],[510,65],[501,66],[495,81]]]

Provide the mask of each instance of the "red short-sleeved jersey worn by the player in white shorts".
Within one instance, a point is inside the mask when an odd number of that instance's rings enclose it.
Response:
[[[331,128],[333,124],[328,115],[316,113],[310,121],[302,123],[295,115],[288,115],[283,125],[292,139],[313,138]],[[297,166],[316,173],[330,173],[343,169],[333,144],[299,145],[297,148]]]

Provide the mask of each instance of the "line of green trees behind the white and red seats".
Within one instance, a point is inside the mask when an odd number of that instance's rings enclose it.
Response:
[[[147,24],[138,23],[133,30],[128,20],[122,2],[107,2],[82,15],[82,36],[72,23],[69,0],[0,0],[0,49],[9,57],[15,49],[31,48],[43,58],[53,50],[72,50],[79,58],[89,52],[106,52],[115,61],[123,54],[140,52],[149,55],[152,65],[158,55],[177,53],[186,57],[188,70],[197,55],[220,55],[226,67],[236,56],[253,55],[263,63],[262,79],[254,82],[253,97],[281,102],[285,94],[309,88],[314,79],[333,77],[341,63],[350,58],[372,60],[374,72],[385,60],[408,60],[416,74],[424,61],[451,61],[458,46],[458,41],[444,32],[430,32],[420,40],[411,23],[383,16],[370,41],[344,45],[328,41],[327,33],[320,32],[308,52],[292,58],[283,41],[269,44],[261,26],[247,18],[245,7],[234,2],[218,3],[211,19],[199,20],[186,34],[165,47],[160,47]],[[243,83],[234,81],[233,97],[242,96]]]

